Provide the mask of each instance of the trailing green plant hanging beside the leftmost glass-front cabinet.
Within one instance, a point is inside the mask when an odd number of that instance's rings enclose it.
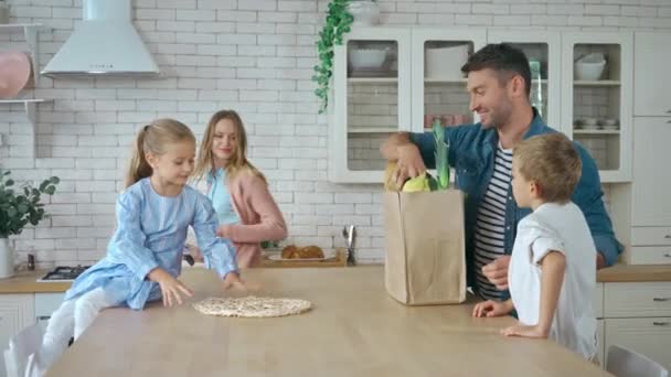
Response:
[[[351,0],[332,0],[329,3],[324,25],[319,32],[317,53],[319,65],[315,66],[317,73],[312,80],[317,83],[315,94],[321,99],[319,114],[323,114],[329,106],[329,83],[333,75],[333,47],[342,45],[342,36],[350,32],[354,18],[347,10]]]

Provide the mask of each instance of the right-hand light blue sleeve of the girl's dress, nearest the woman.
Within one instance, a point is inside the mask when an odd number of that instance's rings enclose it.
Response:
[[[223,279],[228,272],[237,272],[235,247],[225,238],[216,237],[219,219],[212,208],[212,203],[201,193],[196,193],[193,231],[207,263]]]

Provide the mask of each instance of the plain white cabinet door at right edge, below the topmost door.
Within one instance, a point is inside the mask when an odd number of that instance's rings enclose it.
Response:
[[[670,99],[671,100],[671,99]],[[671,226],[671,117],[636,117],[632,226]],[[671,244],[671,235],[669,235]]]

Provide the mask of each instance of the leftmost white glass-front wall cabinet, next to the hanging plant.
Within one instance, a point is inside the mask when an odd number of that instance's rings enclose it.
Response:
[[[411,130],[411,31],[354,28],[333,53],[329,180],[381,183],[380,144]]]

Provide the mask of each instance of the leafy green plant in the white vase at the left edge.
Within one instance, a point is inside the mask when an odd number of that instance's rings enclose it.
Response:
[[[46,217],[44,204],[40,203],[41,195],[53,195],[56,184],[61,182],[57,176],[52,176],[44,180],[38,188],[24,183],[20,187],[22,190],[14,192],[14,181],[9,176],[10,173],[0,169],[0,238],[19,235],[28,223],[38,225]]]

